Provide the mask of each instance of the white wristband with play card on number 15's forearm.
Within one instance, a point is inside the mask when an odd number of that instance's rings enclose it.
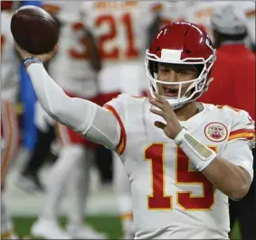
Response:
[[[217,155],[212,149],[198,142],[185,129],[182,129],[174,141],[177,145],[180,145],[198,171],[203,171]]]

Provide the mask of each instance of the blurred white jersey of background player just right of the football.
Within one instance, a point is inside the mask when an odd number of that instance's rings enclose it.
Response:
[[[98,95],[97,73],[81,43],[84,25],[80,18],[80,2],[46,1],[44,8],[56,12],[62,23],[59,50],[49,67],[50,75],[69,94],[78,97]]]

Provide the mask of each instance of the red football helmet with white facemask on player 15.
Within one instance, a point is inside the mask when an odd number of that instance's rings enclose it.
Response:
[[[158,92],[157,83],[179,85],[178,97],[166,97],[174,109],[200,97],[208,87],[208,75],[216,59],[213,42],[205,30],[193,23],[177,22],[162,28],[146,51],[146,70],[149,89],[153,97]],[[190,64],[200,69],[198,78],[184,82],[165,82],[157,79],[159,62]],[[201,66],[200,66],[201,65]],[[181,96],[183,84],[191,83]]]

